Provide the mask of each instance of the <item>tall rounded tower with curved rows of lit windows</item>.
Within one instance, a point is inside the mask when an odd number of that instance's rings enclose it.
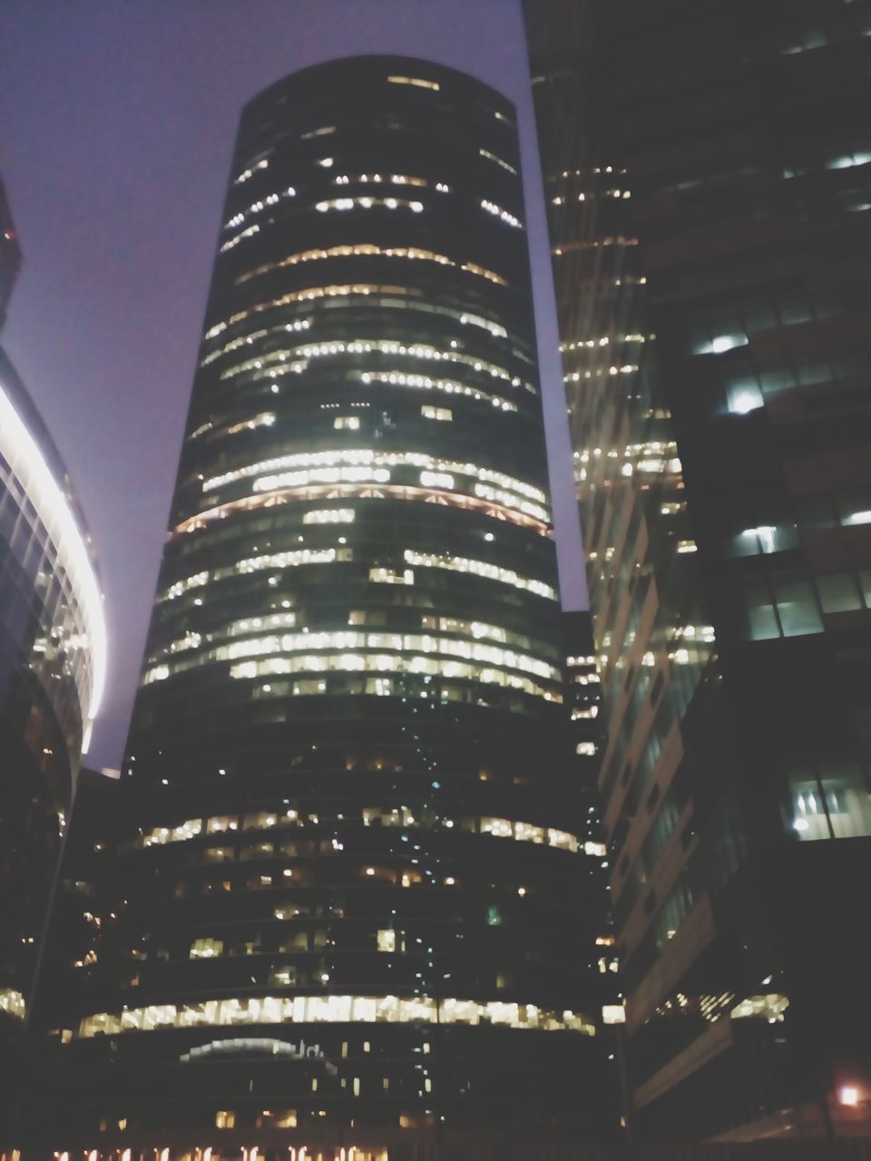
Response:
[[[243,113],[56,1149],[613,1124],[519,166],[420,60]]]

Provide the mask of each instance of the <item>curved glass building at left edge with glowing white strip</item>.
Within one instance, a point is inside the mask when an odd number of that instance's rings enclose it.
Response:
[[[19,262],[1,186],[0,230],[1,322]],[[0,1125],[7,1131],[21,1095],[23,1024],[60,834],[105,668],[102,597],[85,522],[55,444],[0,349],[0,1068],[9,1076]]]

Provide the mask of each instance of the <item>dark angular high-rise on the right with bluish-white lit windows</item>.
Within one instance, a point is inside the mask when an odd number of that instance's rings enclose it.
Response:
[[[525,9],[634,1131],[868,1132],[871,10]]]

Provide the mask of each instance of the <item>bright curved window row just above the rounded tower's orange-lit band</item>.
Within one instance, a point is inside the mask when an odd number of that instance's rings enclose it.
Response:
[[[538,500],[539,504],[545,504],[547,502],[547,496],[541,488],[535,484],[530,484],[524,479],[518,479],[516,476],[509,476],[504,471],[495,471],[492,468],[478,468],[474,463],[462,463],[458,460],[445,460],[441,456],[430,455],[426,452],[373,452],[369,448],[340,448],[330,449],[326,452],[296,452],[290,455],[276,456],[271,460],[261,460],[258,463],[249,463],[243,468],[235,468],[232,471],[226,471],[221,476],[213,476],[209,479],[203,481],[202,490],[203,492],[213,491],[216,488],[224,488],[226,484],[236,483],[238,479],[246,479],[250,476],[257,476],[261,471],[280,471],[287,468],[337,468],[350,466],[353,468],[367,467],[367,468],[419,468],[424,471],[438,471],[438,473],[452,473],[460,476],[470,476],[474,479],[478,479],[482,483],[496,484],[503,489],[510,489],[512,492],[517,492],[519,496],[527,497],[532,500]],[[296,478],[296,477],[301,478]],[[305,477],[305,478],[302,478]],[[339,481],[358,482],[361,479],[373,479],[376,483],[386,484],[390,479],[390,473],[370,473],[363,476],[347,476],[345,474],[339,475],[333,478],[324,478],[323,483],[333,483]],[[274,488],[287,488],[294,483],[308,484],[314,481],[314,477],[308,478],[307,473],[294,473],[294,478],[290,479],[283,475],[280,476],[266,476],[260,479],[254,481],[255,491],[272,491]],[[420,481],[423,484],[429,484],[430,481]],[[453,488],[453,482],[447,484],[447,486]],[[476,492],[476,495],[482,495]],[[492,498],[492,497],[485,497]],[[508,500],[502,500],[502,503],[512,506]],[[517,506],[517,500],[512,500],[513,506]],[[526,509],[523,509],[526,511]],[[535,512],[530,514],[538,517],[541,520],[547,519],[547,511],[544,509],[537,509]]]

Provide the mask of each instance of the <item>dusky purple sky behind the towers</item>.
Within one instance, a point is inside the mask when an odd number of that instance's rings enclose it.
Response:
[[[426,57],[519,108],[564,604],[583,606],[520,0],[19,0],[0,5],[0,172],[24,251],[3,344],[106,592],[91,764],[121,760],[239,110],[330,57]]]

